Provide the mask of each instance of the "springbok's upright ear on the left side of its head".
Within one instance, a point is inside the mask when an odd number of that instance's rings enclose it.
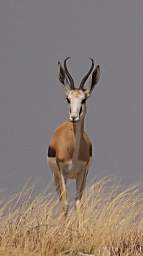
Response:
[[[58,78],[59,78],[59,81],[64,85],[65,93],[68,94],[70,91],[70,86],[68,84],[65,70],[62,67],[60,62],[58,62]]]

